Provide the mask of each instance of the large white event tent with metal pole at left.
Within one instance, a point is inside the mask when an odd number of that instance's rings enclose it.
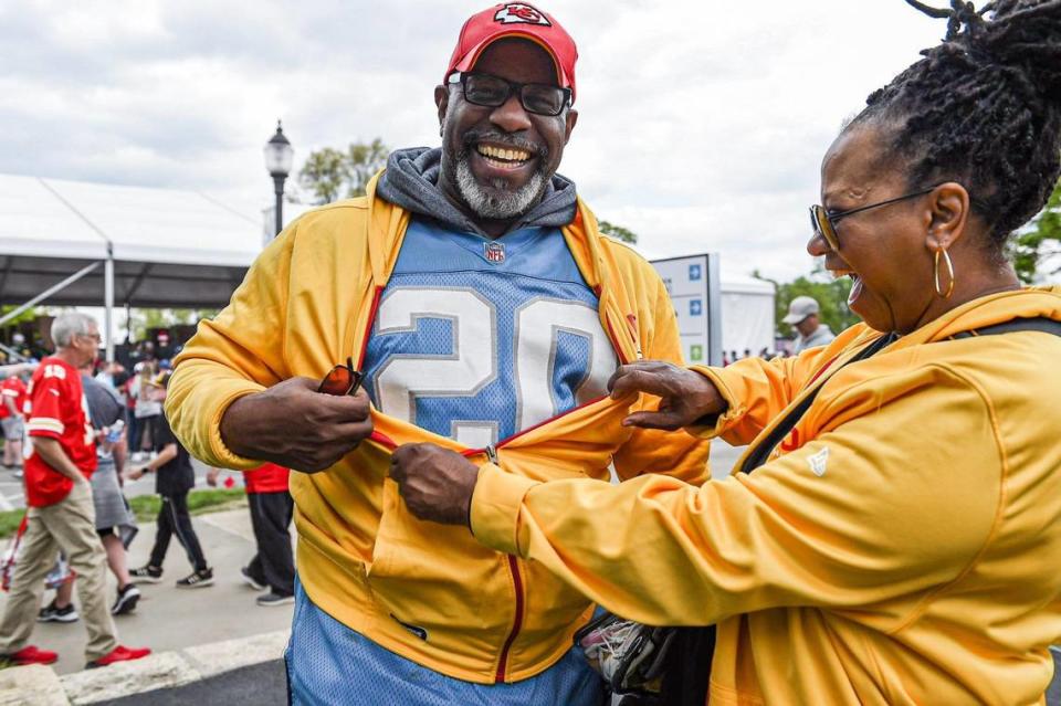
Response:
[[[103,306],[107,331],[115,305],[218,308],[267,236],[200,191],[0,175],[0,304]]]

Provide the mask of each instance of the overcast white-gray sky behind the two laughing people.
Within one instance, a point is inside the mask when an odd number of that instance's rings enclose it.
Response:
[[[938,4],[938,3],[937,3]],[[0,172],[271,202],[295,162],[380,137],[438,145],[432,91],[485,2],[0,1]],[[865,96],[938,42],[902,0],[551,0],[575,38],[561,173],[648,256],[731,276],[809,272],[821,155]]]

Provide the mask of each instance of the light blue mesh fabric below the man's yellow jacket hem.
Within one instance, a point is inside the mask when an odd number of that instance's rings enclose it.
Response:
[[[291,703],[302,706],[600,706],[603,688],[578,649],[515,684],[474,684],[386,650],[313,604],[295,582],[284,653]]]

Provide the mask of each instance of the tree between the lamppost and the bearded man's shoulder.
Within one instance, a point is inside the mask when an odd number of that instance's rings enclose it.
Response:
[[[345,149],[325,147],[309,152],[298,171],[298,183],[313,192],[317,203],[365,196],[365,188],[387,164],[387,146],[380,138],[350,143]]]

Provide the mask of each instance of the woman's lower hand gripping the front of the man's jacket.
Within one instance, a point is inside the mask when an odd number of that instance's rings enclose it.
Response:
[[[435,444],[406,444],[390,459],[409,512],[443,525],[468,525],[479,470],[468,459]]]

